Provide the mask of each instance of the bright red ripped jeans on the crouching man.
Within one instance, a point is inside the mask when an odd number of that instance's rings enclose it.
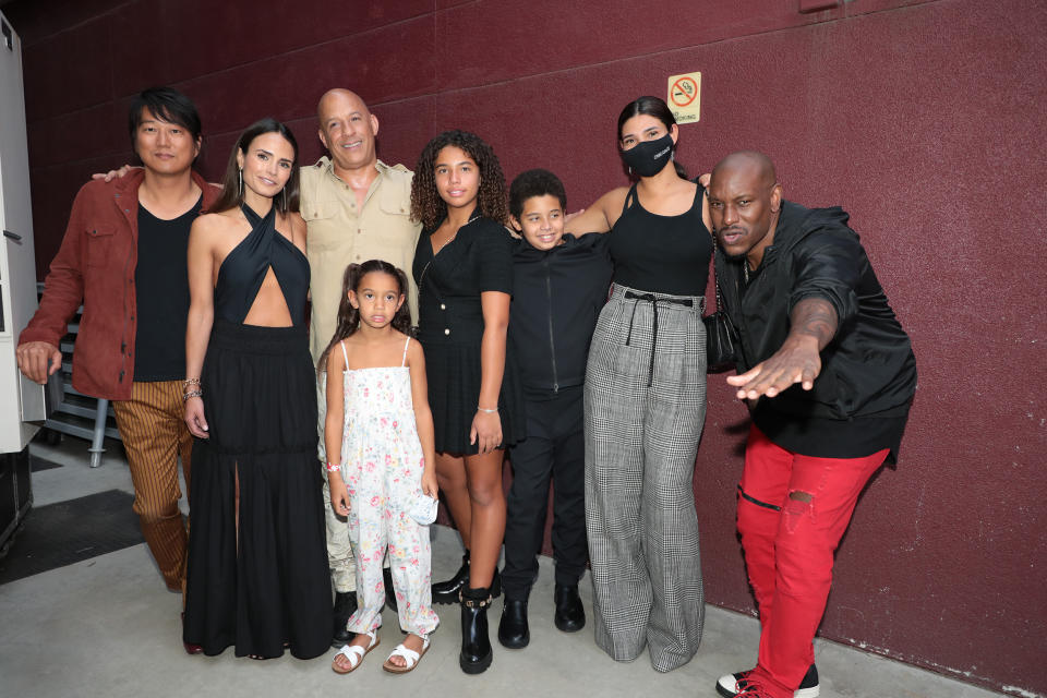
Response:
[[[802,456],[771,443],[755,424],[749,430],[738,532],[760,611],[760,655],[751,677],[774,698],[792,698],[815,661],[833,554],[858,494],[887,454]]]

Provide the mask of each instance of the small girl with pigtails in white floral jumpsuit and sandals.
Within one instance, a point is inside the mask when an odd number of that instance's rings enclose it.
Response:
[[[440,623],[432,609],[429,527],[418,522],[425,520],[418,512],[434,503],[437,491],[433,418],[425,359],[406,334],[407,288],[404,272],[387,262],[350,265],[338,328],[320,359],[320,369],[327,371],[324,441],[328,458],[341,456],[340,462],[327,464],[330,504],[349,519],[360,597],[348,623],[357,638],[332,664],[339,674],[356,670],[378,645],[386,547],[399,622],[408,636],[383,667],[393,673],[414,669]]]

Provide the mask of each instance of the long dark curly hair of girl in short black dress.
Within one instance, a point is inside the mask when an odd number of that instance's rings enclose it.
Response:
[[[502,173],[498,157],[480,136],[467,131],[444,131],[422,149],[411,183],[411,219],[421,221],[425,229],[433,229],[446,216],[447,204],[436,191],[435,165],[436,156],[448,145],[461,148],[480,168],[480,192],[477,194],[480,213],[505,225],[508,220],[505,174]]]

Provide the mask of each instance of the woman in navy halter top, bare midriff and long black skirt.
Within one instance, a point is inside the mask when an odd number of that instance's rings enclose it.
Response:
[[[330,645],[298,146],[263,119],[189,239],[185,421],[193,524],[183,639],[309,659]],[[198,476],[198,477],[196,477]]]

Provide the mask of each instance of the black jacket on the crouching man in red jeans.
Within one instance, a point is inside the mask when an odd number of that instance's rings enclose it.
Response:
[[[741,260],[729,260],[717,250],[723,303],[742,339],[739,373],[778,351],[789,335],[790,313],[799,301],[823,298],[837,311],[837,334],[821,351],[821,373],[814,388],[804,390],[795,385],[773,398],[761,398],[754,412],[765,433],[804,434],[798,437],[807,446],[804,450],[792,447],[795,443],[779,445],[808,456],[862,455],[813,453],[823,441],[819,428],[832,425],[826,420],[840,420],[861,435],[870,428],[866,418],[893,420],[904,426],[916,389],[916,359],[908,336],[847,220],[839,207],[810,209],[783,201],[774,241],[763,252],[759,268],[750,273],[744,291]],[[872,423],[871,429],[880,425],[886,422]],[[767,435],[779,443],[771,433]],[[900,431],[896,437],[880,448],[896,450]]]

